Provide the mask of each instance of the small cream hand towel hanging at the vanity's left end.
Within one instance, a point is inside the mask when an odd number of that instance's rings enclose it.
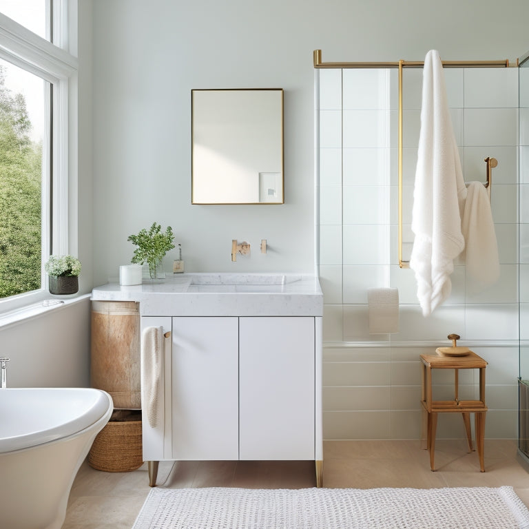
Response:
[[[151,428],[158,424],[158,391],[163,362],[163,328],[146,327],[141,335],[141,408]]]

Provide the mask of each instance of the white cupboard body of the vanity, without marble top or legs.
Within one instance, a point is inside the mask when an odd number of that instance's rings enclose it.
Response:
[[[144,459],[316,459],[315,318],[142,317],[169,324]]]

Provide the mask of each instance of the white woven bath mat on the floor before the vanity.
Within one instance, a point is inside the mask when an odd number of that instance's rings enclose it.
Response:
[[[132,529],[529,529],[499,488],[153,488]]]

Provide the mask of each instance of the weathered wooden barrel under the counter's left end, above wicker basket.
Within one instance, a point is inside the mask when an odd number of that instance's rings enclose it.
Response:
[[[92,301],[90,379],[110,393],[114,408],[141,409],[138,303]]]

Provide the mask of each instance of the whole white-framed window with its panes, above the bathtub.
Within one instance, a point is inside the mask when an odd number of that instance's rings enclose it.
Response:
[[[68,27],[74,1],[0,0],[0,311],[45,298],[45,261],[72,253],[68,184],[76,166],[68,152],[76,134],[68,108],[76,104],[77,61],[43,35],[52,18]]]

